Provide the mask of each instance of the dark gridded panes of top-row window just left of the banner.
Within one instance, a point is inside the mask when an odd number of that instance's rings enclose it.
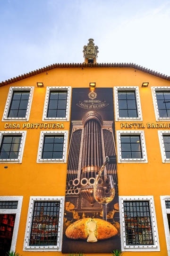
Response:
[[[67,91],[50,91],[47,118],[65,118]]]

